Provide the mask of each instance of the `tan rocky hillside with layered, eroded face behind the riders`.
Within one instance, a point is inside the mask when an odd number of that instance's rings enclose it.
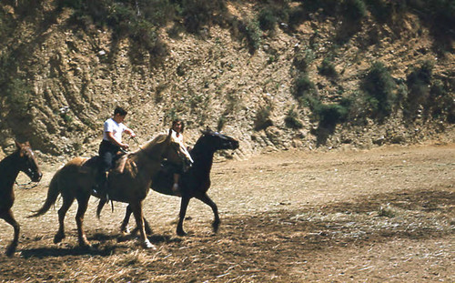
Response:
[[[297,22],[279,20],[261,29],[256,19],[267,1],[222,1],[223,14],[196,32],[180,28],[185,21],[178,17],[158,26],[154,52],[141,52],[134,37],[118,36],[109,25],[75,23],[75,8],[60,2],[0,4],[0,157],[14,148],[15,138],[29,140],[48,161],[94,155],[115,106],[129,110],[126,124],[140,142],[178,116],[187,121],[188,144],[209,126],[240,140],[234,156],[240,158],[292,147],[453,141],[453,30],[436,34],[418,11],[380,22],[366,10],[354,25],[319,8]],[[306,8],[304,1],[284,3]],[[242,29],[236,23],[247,24]],[[298,96],[304,73],[322,106],[353,101],[365,92],[364,79],[375,62],[387,68],[393,94],[401,96],[380,119],[359,119],[368,108],[359,104],[324,125],[312,100]],[[425,62],[434,87],[422,93],[440,95],[425,101],[419,96],[414,103],[410,77]]]

